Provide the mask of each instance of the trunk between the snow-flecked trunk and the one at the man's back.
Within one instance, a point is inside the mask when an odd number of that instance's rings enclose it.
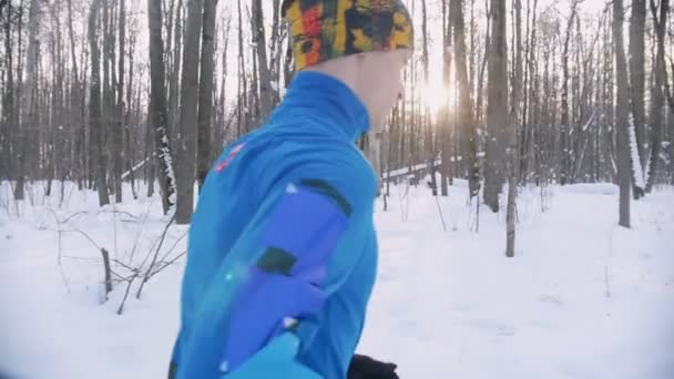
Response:
[[[196,178],[196,101],[198,90],[198,47],[202,30],[203,1],[187,2],[187,24],[183,45],[181,76],[181,111],[177,141],[175,180],[177,199],[175,223],[188,224],[194,209],[194,181]]]

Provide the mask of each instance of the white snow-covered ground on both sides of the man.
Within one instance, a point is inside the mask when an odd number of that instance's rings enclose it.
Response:
[[[0,372],[165,377],[184,257],[140,299],[134,280],[118,316],[126,284],[102,304],[99,249],[120,276],[145,274],[168,222],[159,198],[129,194],[101,211],[71,186],[62,204],[60,184],[50,198],[34,186],[22,204],[9,191],[0,186]],[[466,196],[457,182],[438,202],[405,186],[391,187],[388,212],[378,201],[380,266],[359,351],[395,361],[402,379],[674,378],[673,188],[633,202],[632,229],[616,226],[613,185],[522,190],[511,259],[504,214],[482,207],[478,225]],[[167,229],[154,267],[185,249],[185,232]]]

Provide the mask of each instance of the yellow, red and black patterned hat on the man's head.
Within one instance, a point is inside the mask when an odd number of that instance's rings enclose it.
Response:
[[[412,49],[412,21],[401,0],[285,0],[297,71],[367,51]]]

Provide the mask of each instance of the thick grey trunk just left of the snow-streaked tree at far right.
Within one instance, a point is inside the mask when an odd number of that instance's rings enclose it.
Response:
[[[623,1],[613,0],[613,44],[615,45],[615,72],[617,78],[617,103],[615,127],[617,130],[617,176],[620,184],[620,226],[630,227],[630,186],[632,165],[629,143],[630,88],[627,62],[623,44]]]

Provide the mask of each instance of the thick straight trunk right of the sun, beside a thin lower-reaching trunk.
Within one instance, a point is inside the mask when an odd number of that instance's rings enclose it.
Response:
[[[504,137],[508,127],[508,47],[506,1],[491,0],[491,43],[489,47],[489,91],[487,103],[487,156],[484,162],[484,203],[499,212],[499,195],[506,182]]]

